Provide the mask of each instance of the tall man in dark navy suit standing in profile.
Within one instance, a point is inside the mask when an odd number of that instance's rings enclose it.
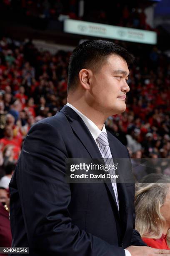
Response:
[[[10,182],[12,246],[27,246],[32,256],[165,253],[145,246],[133,229],[134,184],[65,180],[67,158],[129,158],[104,122],[125,111],[132,58],[122,47],[101,40],[73,51],[68,103],[30,129]]]

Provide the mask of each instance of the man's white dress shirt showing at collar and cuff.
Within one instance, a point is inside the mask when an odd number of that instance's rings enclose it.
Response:
[[[94,138],[98,148],[99,145],[96,141],[97,137],[100,135],[101,132],[107,133],[106,128],[105,128],[105,124],[103,124],[102,127],[102,131],[97,127],[97,125],[95,125],[95,123],[92,122],[92,120],[90,120],[89,118],[87,118],[87,116],[83,115],[79,110],[77,110],[77,108],[75,108],[74,106],[72,106],[70,103],[67,102],[66,104],[68,107],[72,108],[78,115],[80,115],[80,117],[82,118],[82,120],[84,121],[85,125],[87,126],[87,128],[89,129],[92,137]],[[128,250],[125,250],[125,256],[132,256],[131,253]]]

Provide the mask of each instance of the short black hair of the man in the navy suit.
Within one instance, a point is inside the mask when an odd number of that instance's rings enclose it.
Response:
[[[111,54],[122,57],[127,64],[132,64],[134,56],[125,48],[105,40],[85,41],[77,46],[68,65],[67,91],[77,87],[78,74],[81,69],[97,69]]]

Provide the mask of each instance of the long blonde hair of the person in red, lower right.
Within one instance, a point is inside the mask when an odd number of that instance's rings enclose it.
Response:
[[[170,177],[163,175],[161,182],[165,181],[166,183],[138,183],[135,185],[135,229],[142,237],[159,239],[163,234],[165,218],[161,214],[160,208],[164,204],[170,188],[170,184],[167,183],[170,182]],[[169,230],[167,240],[170,241]]]

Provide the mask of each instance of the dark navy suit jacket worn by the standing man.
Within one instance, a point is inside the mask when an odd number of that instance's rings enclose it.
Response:
[[[107,135],[112,157],[129,158],[127,148]],[[66,158],[102,158],[68,106],[36,123],[25,138],[10,182],[12,246],[29,247],[31,256],[125,256],[123,248],[145,245],[133,229],[134,184],[117,184],[118,212],[111,182],[65,182]]]

